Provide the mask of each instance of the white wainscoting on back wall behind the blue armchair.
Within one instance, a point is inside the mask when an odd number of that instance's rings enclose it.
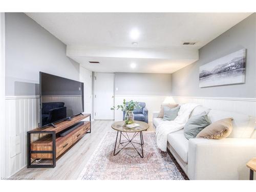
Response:
[[[167,96],[161,95],[115,95],[115,106],[126,101],[134,100],[138,102],[145,102],[148,110],[148,121],[152,121],[153,112],[160,110],[160,105]],[[115,111],[115,121],[123,120],[123,112],[121,110]]]

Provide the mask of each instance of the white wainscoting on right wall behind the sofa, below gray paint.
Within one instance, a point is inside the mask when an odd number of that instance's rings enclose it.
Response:
[[[183,97],[173,96],[176,103],[195,102],[210,109],[243,113],[256,116],[256,98],[226,98],[226,97]]]

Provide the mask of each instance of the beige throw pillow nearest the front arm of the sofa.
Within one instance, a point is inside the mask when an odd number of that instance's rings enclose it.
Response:
[[[204,139],[223,139],[227,138],[232,132],[233,118],[226,118],[211,123],[198,133],[196,138]]]

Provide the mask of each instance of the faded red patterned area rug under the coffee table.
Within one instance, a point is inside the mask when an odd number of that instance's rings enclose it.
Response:
[[[184,180],[181,168],[167,152],[156,145],[155,132],[143,132],[144,158],[131,143],[116,156],[114,145],[117,132],[105,134],[95,152],[82,170],[80,180]],[[139,137],[134,139],[139,142]],[[123,139],[122,139],[123,140]],[[123,140],[124,141],[124,140]],[[121,146],[119,146],[121,148]]]

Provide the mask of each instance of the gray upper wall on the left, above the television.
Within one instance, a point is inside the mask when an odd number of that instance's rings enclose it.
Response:
[[[24,13],[6,13],[6,95],[39,95],[39,71],[79,80],[66,45]]]

